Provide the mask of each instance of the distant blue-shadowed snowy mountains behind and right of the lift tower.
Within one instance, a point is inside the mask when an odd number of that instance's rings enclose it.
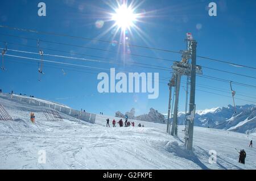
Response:
[[[195,125],[197,127],[225,129],[240,133],[256,132],[256,105],[217,107],[209,110],[196,111]],[[184,124],[184,113],[179,112],[178,124]]]

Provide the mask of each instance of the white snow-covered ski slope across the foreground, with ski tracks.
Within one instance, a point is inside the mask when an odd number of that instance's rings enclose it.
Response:
[[[172,137],[166,125],[146,121],[135,120],[144,128],[106,128],[114,117],[105,115],[97,115],[96,124],[62,113],[63,121],[50,122],[42,107],[1,97],[0,103],[14,119],[0,121],[0,169],[256,169],[253,135],[195,127],[191,153],[184,149],[183,127]],[[245,149],[245,165],[234,148]],[[46,163],[38,162],[40,150]],[[217,163],[208,162],[209,150],[217,151]]]

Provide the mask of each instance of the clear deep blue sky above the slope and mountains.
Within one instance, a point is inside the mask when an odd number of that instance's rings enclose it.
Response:
[[[109,14],[114,12],[106,2],[113,5],[115,1],[43,1],[46,3],[47,16],[38,16],[38,3],[41,1],[5,1],[0,6],[0,24],[10,27],[26,28],[44,32],[55,32],[73,36],[88,37],[90,39],[101,39],[119,41],[119,34],[114,37],[112,31],[104,34],[106,30],[113,26],[113,21],[107,21]],[[142,22],[137,22],[141,30],[137,33],[131,29],[127,33],[129,43],[133,45],[144,45],[170,50],[181,50],[185,48],[185,33],[192,32],[197,40],[197,55],[216,58],[243,64],[256,66],[256,2],[255,1],[234,1],[218,0],[217,16],[208,15],[208,4],[212,1],[144,1],[136,11],[146,12]],[[128,1],[130,3],[130,1]],[[97,20],[104,20],[104,26],[96,27]],[[104,52],[95,49],[85,49],[81,47],[72,47],[66,45],[51,44],[41,42],[40,46],[48,49],[61,50],[70,53],[56,52],[53,50],[44,50],[44,53],[58,54],[63,56],[72,56],[80,58],[92,58],[96,60],[109,61],[114,59],[121,63],[104,64],[98,62],[82,62],[67,58],[56,58],[44,56],[46,60],[67,62],[70,64],[79,64],[94,66],[97,68],[110,69],[115,68],[120,71],[129,72],[158,72],[159,77],[170,77],[171,73],[164,70],[139,68],[129,66],[130,62],[140,62],[170,68],[172,62],[163,60],[154,60],[145,57],[136,57],[127,55],[125,58],[118,49],[118,46],[109,43],[97,41],[88,41],[82,39],[72,39],[70,37],[42,35],[32,32],[22,32],[0,28],[0,33],[29,37],[31,39],[42,39],[46,41],[56,41],[66,44],[75,44],[79,46],[108,49],[112,52]],[[28,52],[38,52],[35,40],[20,39],[6,35],[0,35],[1,48],[4,47],[3,41],[8,42],[9,49],[24,50]],[[13,44],[11,44],[13,43]],[[16,45],[22,44],[26,46]],[[30,47],[28,47],[30,46]],[[130,47],[132,54],[141,54],[144,56],[154,56],[180,61],[180,54],[159,52],[151,49]],[[15,53],[16,56],[26,56],[40,58],[39,55]],[[101,56],[106,58],[93,58],[89,56]],[[208,66],[210,68],[232,71],[234,73],[246,74],[255,77],[256,72],[252,69],[237,68],[228,64],[204,60],[197,58],[197,65]],[[48,66],[48,67],[47,67]],[[36,61],[22,58],[5,57],[6,71],[0,72],[0,89],[4,92],[13,90],[17,94],[34,95],[38,98],[53,100],[67,104],[76,109],[83,109],[88,112],[104,112],[108,115],[114,115],[114,112],[129,111],[135,108],[136,114],[147,113],[153,107],[159,112],[167,112],[168,87],[165,83],[159,83],[159,98],[147,99],[148,94],[142,93],[109,93],[100,94],[97,91],[97,73],[98,70],[86,70],[75,66],[63,66],[59,64],[47,64],[44,68],[46,74],[42,81],[38,82],[38,63]],[[63,74],[63,69],[66,75]],[[232,81],[256,85],[255,79],[241,77],[233,74],[222,73],[210,69],[203,70],[205,75],[225,78]],[[184,80],[184,79],[183,79]],[[162,81],[161,82],[167,82]],[[229,83],[214,81],[211,79],[197,78],[197,85],[213,86],[218,89],[229,91]],[[228,92],[218,92],[215,90],[197,87],[200,90],[216,92],[230,96]],[[210,87],[208,87],[210,88]],[[256,98],[255,89],[234,85],[238,94],[248,95]],[[251,104],[256,99],[237,95],[237,98],[250,100],[236,100],[236,104]],[[184,111],[185,91],[181,87],[179,111]],[[209,94],[203,91],[196,92],[197,110],[205,108],[226,106],[232,104],[231,96]]]

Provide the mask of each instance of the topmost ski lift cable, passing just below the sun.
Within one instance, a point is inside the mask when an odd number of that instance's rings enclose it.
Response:
[[[28,30],[28,29],[24,29],[24,28],[16,28],[16,27],[9,27],[9,26],[3,26],[3,25],[0,25],[0,28],[9,28],[10,30],[23,31],[23,32],[33,32],[33,33],[38,33],[38,34],[43,34],[43,35],[64,36],[64,37],[71,37],[71,38],[76,38],[76,39],[84,39],[84,40],[90,40],[90,41],[99,41],[99,42],[104,42],[104,43],[113,43],[113,41],[107,41],[107,40],[92,39],[92,38],[80,37],[80,36],[71,36],[71,35],[65,35],[65,34],[54,33],[54,32],[43,32],[43,31],[37,31],[37,30]],[[123,43],[119,43],[119,42],[117,42],[117,43],[120,44],[120,45],[123,44]],[[129,45],[131,47],[138,47],[138,48],[146,48],[146,49],[151,49],[151,50],[158,50],[158,51],[162,51],[162,52],[170,52],[170,53],[182,54],[182,52],[175,51],[175,50],[160,49],[160,48],[155,48],[155,47],[146,47],[146,46],[142,46],[142,45],[133,45],[133,44],[126,44],[126,45]],[[210,58],[210,57],[205,57],[205,56],[197,56],[197,57],[208,59],[208,60],[211,60],[211,61],[222,62],[222,63],[229,64],[229,65],[240,66],[240,67],[256,70],[256,68],[252,67],[252,66],[235,64],[233,62],[217,60],[216,58]]]

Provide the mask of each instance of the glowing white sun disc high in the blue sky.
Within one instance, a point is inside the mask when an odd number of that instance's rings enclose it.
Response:
[[[115,10],[115,13],[112,15],[112,20],[115,21],[115,26],[126,30],[134,26],[134,23],[137,21],[137,15],[134,13],[131,6],[127,7],[127,5],[123,4]]]

